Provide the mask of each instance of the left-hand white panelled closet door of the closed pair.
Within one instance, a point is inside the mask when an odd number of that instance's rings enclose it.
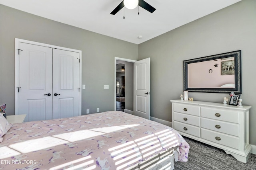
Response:
[[[19,47],[19,114],[26,114],[24,121],[52,119],[52,49]]]

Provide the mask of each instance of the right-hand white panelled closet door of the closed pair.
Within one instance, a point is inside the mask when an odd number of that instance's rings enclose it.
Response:
[[[53,49],[52,118],[79,115],[79,53]]]

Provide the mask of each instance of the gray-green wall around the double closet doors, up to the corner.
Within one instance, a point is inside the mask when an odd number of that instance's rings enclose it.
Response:
[[[14,114],[15,38],[82,50],[82,114],[114,110],[114,57],[138,60],[136,44],[0,5],[0,102],[8,115]]]

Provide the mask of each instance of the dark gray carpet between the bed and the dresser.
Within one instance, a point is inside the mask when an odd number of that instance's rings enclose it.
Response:
[[[175,162],[174,170],[256,170],[256,155],[247,163],[236,160],[222,149],[184,137],[190,145],[188,162]]]

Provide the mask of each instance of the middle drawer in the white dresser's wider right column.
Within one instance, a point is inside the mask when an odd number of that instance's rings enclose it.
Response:
[[[201,127],[238,137],[239,125],[234,123],[201,118]]]

